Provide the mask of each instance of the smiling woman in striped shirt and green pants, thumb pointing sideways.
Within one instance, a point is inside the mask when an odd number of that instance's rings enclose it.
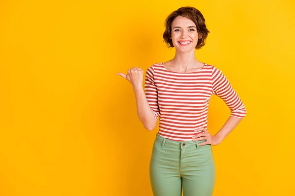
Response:
[[[163,34],[175,57],[150,66],[142,88],[143,70],[135,67],[127,75],[137,101],[139,119],[148,130],[160,116],[150,159],[150,182],[154,196],[212,196],[215,165],[211,145],[218,145],[245,117],[246,109],[215,66],[200,62],[195,49],[205,45],[209,33],[202,13],[181,7],[165,21]],[[212,95],[222,98],[231,110],[224,126],[211,135],[207,111]]]

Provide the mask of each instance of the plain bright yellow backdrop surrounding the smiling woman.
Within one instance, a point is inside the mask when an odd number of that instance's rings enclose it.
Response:
[[[116,73],[173,58],[164,20],[186,5],[210,31],[197,59],[221,69],[247,109],[213,147],[214,196],[294,194],[293,0],[1,0],[0,196],[152,196],[158,124],[144,129]],[[213,96],[208,130],[229,115]]]

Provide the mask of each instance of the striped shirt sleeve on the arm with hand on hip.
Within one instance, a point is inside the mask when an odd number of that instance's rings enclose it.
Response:
[[[245,118],[247,111],[244,103],[236,94],[236,91],[233,89],[226,76],[214,66],[212,69],[212,81],[213,94],[223,99],[231,110],[231,116],[241,119]]]

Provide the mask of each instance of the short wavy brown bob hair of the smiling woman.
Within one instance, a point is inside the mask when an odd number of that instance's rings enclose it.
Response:
[[[167,19],[165,20],[165,31],[163,33],[164,41],[166,42],[166,45],[168,48],[173,48],[173,43],[171,39],[171,25],[174,19],[177,16],[186,17],[190,20],[192,20],[196,27],[197,32],[202,35],[201,39],[198,39],[198,43],[196,45],[196,49],[201,49],[206,43],[205,40],[208,36],[208,33],[210,33],[205,25],[205,18],[203,14],[194,7],[180,7],[176,11],[172,12]],[[163,42],[164,42],[163,41]]]

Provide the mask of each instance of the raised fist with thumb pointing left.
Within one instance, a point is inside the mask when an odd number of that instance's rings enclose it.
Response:
[[[127,71],[127,75],[124,73],[117,73],[117,75],[120,75],[128,80],[134,89],[140,89],[143,87],[143,74],[144,71],[139,67],[130,68]]]

